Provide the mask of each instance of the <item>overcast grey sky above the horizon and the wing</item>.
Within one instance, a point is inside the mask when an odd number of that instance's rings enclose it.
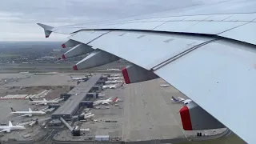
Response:
[[[0,2],[0,41],[65,40],[66,35],[44,38],[37,22],[63,26],[104,19],[126,18],[198,6],[224,0],[2,0]]]

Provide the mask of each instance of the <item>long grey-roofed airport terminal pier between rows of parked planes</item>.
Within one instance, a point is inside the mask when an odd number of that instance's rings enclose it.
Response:
[[[51,115],[51,118],[60,118],[62,117],[65,120],[71,120],[72,116],[79,109],[80,102],[82,102],[86,98],[86,94],[89,93],[90,89],[98,82],[98,80],[102,77],[102,74],[96,74],[92,76],[86,82],[80,82],[78,86],[75,86],[72,90],[70,90],[70,98],[64,102],[62,106],[58,108]]]

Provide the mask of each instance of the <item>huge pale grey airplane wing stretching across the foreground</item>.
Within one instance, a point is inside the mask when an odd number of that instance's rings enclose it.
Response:
[[[256,100],[255,7],[254,0],[234,0],[114,21],[39,25],[46,37],[50,32],[71,34],[62,47],[82,44],[70,51],[74,55],[93,50],[74,70],[123,58],[163,78],[246,142],[255,143],[256,105],[240,98],[246,94]]]

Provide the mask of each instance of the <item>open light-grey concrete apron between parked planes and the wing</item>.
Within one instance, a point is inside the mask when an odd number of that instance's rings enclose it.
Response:
[[[169,92],[178,91],[164,91],[159,83],[156,79],[126,85],[123,141],[186,138],[176,114],[182,105],[170,103]]]

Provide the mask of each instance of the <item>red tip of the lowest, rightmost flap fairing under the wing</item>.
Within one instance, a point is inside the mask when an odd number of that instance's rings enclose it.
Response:
[[[182,107],[182,109],[179,110],[179,114],[181,114],[183,129],[192,130],[189,108],[187,106]]]

